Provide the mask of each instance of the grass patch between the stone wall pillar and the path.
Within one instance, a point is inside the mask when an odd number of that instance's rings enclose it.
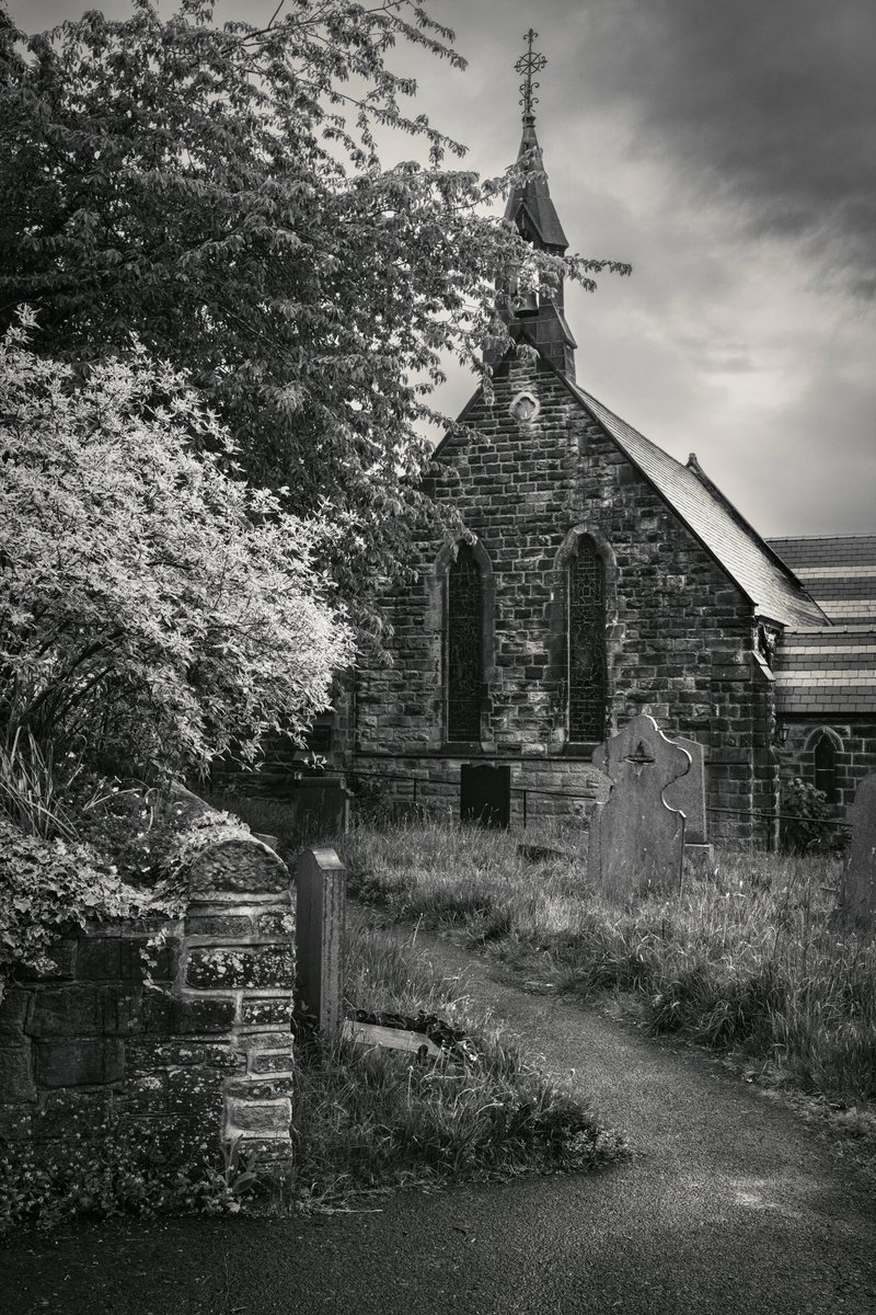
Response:
[[[464,1030],[475,1059],[419,1059],[356,1045],[297,1049],[296,1205],[361,1207],[362,1195],[461,1178],[588,1169],[625,1155],[623,1139],[535,1069],[454,981],[436,982],[415,944],[351,919],[351,1006],[436,1014]]]

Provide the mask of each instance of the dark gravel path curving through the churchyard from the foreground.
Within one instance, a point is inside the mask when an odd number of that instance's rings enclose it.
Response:
[[[3,1315],[873,1315],[876,1199],[835,1144],[697,1051],[494,981],[444,942],[418,945],[546,1068],[575,1070],[629,1136],[629,1164],[405,1191],[327,1220],[17,1243],[0,1255]]]

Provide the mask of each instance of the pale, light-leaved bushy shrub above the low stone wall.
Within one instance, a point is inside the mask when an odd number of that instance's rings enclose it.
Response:
[[[326,706],[352,643],[313,565],[324,531],[236,477],[171,367],[135,347],[75,371],[11,329],[0,455],[9,739],[180,771]]]

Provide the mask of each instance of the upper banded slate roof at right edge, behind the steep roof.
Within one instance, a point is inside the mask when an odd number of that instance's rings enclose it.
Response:
[[[876,534],[771,539],[838,625],[876,625]]]

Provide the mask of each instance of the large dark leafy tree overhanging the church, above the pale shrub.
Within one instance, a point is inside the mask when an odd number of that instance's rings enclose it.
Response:
[[[281,0],[260,28],[134,0],[26,49],[0,14],[0,316],[34,305],[39,350],[134,330],[184,366],[256,483],[341,531],[332,573],[360,601],[439,514],[418,422],[443,360],[506,341],[495,289],[524,258],[542,285],[604,264],[533,255],[485,214],[502,184],[445,168],[461,147],[403,113],[397,41],[464,63],[415,0]],[[377,130],[420,137],[429,166],[383,170]]]

